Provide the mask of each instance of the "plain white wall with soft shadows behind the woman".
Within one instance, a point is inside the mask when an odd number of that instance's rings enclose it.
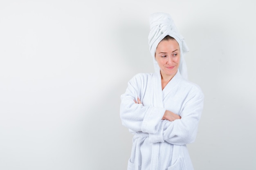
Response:
[[[195,170],[256,169],[253,0],[1,0],[0,170],[125,170],[120,95],[152,72],[148,17],[184,36],[205,94]]]

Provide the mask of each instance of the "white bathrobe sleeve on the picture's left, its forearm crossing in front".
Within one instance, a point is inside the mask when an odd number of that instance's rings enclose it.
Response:
[[[129,82],[126,92],[121,95],[120,117],[122,124],[135,132],[157,133],[165,108],[135,104],[141,99],[148,84],[147,74],[137,74]]]

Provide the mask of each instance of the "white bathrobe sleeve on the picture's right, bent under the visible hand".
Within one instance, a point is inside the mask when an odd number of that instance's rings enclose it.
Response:
[[[167,141],[174,145],[185,145],[195,141],[198,123],[202,114],[204,95],[195,89],[189,95],[180,114],[181,119],[175,121],[162,120],[157,133],[149,134],[151,143]]]

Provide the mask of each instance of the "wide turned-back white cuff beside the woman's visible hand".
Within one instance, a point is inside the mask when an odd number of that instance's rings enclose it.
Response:
[[[145,133],[155,134],[158,131],[158,124],[162,121],[165,108],[149,107],[142,122],[141,130]]]

